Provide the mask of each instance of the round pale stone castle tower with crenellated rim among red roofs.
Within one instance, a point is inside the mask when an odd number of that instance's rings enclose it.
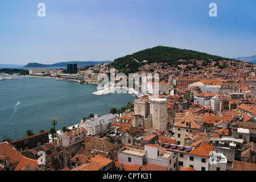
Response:
[[[150,114],[154,129],[167,129],[167,100],[165,98],[152,98],[150,100]]]

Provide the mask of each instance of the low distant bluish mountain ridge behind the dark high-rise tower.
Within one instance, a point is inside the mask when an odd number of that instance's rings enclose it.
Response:
[[[80,67],[86,67],[87,65],[97,65],[97,64],[104,64],[104,63],[111,63],[111,61],[81,61]],[[29,63],[25,65],[23,68],[47,68],[47,67],[66,67],[67,64],[77,64],[77,61],[68,61],[68,62],[60,62],[54,64],[40,64],[40,63]]]

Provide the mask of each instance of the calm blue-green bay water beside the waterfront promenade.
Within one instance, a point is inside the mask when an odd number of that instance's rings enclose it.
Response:
[[[89,114],[109,114],[111,107],[120,109],[134,102],[130,94],[95,96],[97,85],[54,78],[19,77],[0,81],[0,142],[3,135],[12,140],[23,138],[26,130],[38,134],[49,131],[55,119],[56,130],[72,126]],[[20,102],[20,104],[18,103]]]

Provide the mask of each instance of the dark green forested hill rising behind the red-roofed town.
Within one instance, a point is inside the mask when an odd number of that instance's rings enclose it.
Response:
[[[214,56],[209,55],[207,53],[192,51],[188,49],[179,49],[173,47],[165,47],[165,46],[157,46],[153,48],[148,48],[143,51],[135,52],[131,55],[127,55],[124,57],[119,57],[115,59],[111,64],[110,67],[123,70],[124,72],[137,72],[138,68],[141,65],[145,64],[142,63],[143,60],[147,60],[147,63],[167,63],[168,65],[178,65],[181,64],[178,60],[208,60],[213,59],[214,61],[218,60],[231,60],[229,58],[221,57],[221,56]],[[137,61],[136,61],[137,60]],[[188,64],[189,62],[187,62]],[[130,69],[130,71],[126,71]]]

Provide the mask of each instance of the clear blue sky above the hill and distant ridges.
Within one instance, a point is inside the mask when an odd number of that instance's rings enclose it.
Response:
[[[254,0],[0,0],[0,64],[114,60],[159,45],[241,57],[255,43]]]

